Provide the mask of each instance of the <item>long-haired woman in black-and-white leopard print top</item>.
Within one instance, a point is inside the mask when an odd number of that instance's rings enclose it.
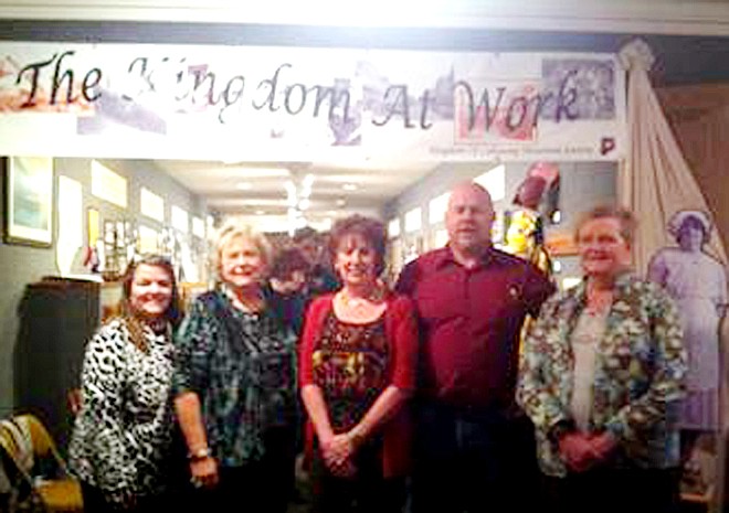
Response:
[[[170,263],[148,256],[124,278],[122,314],[86,346],[70,445],[84,511],[155,511],[172,437],[171,332],[180,310]]]

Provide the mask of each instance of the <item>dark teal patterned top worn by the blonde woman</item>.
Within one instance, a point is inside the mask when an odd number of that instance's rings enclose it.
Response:
[[[176,336],[176,394],[200,397],[208,443],[222,467],[264,455],[264,436],[293,427],[296,416],[296,339],[270,307],[235,308],[224,290],[191,306]]]

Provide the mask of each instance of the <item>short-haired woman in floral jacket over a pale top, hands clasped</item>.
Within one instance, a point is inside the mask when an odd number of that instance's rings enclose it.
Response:
[[[542,307],[517,399],[537,428],[552,509],[672,511],[686,354],[677,310],[628,271],[635,222],[598,207],[578,224],[583,282]]]

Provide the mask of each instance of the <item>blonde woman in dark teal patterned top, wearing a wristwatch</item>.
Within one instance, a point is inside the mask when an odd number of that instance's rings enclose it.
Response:
[[[209,511],[243,500],[246,511],[284,512],[295,457],[295,338],[264,292],[271,246],[230,224],[215,257],[218,287],[196,299],[176,339],[175,407],[191,482],[204,491],[193,495]]]

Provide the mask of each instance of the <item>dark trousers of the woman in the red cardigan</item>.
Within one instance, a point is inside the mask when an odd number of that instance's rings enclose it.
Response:
[[[317,513],[401,513],[405,504],[404,478],[384,478],[378,442],[362,447],[356,458],[357,475],[332,475],[317,455],[314,493]]]

